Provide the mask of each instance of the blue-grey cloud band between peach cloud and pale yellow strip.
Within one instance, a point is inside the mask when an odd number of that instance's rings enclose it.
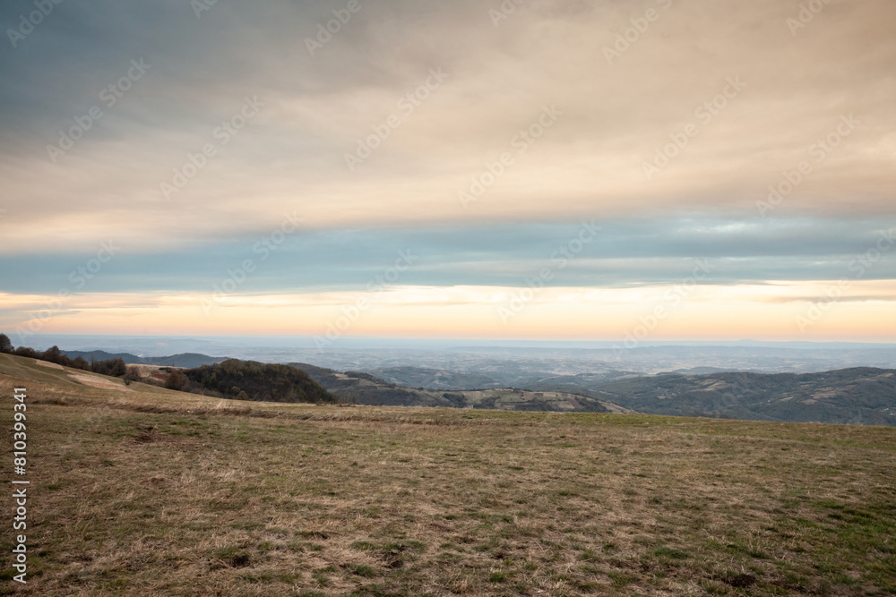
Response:
[[[240,292],[269,294],[364,288],[392,266],[400,252],[414,257],[400,286],[525,286],[546,267],[547,286],[625,288],[679,281],[697,260],[710,260],[704,284],[854,277],[854,264],[880,238],[879,221],[781,218],[763,223],[719,215],[670,219],[595,220],[593,240],[565,259],[581,222],[508,223],[316,230],[299,229],[271,242],[271,226],[255,235],[198,244],[180,252],[124,250],[95,277],[73,286],[73,272],[93,252],[7,256],[0,277],[7,292],[189,291],[210,293],[251,260]],[[116,240],[124,244],[125,239]],[[267,243],[267,244],[266,244]],[[268,248],[270,247],[270,248]],[[579,247],[576,247],[579,249]],[[239,275],[237,274],[237,277]],[[74,277],[80,279],[75,274]],[[896,253],[885,252],[865,279],[896,278]]]

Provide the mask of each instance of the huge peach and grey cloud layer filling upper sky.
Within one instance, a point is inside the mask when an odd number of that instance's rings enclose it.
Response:
[[[13,23],[27,5],[0,16]],[[890,2],[831,2],[796,37],[796,1],[532,2],[497,28],[472,0],[363,6],[312,56],[305,38],[336,5],[219,3],[197,19],[175,2],[59,4],[0,55],[0,175],[16,198],[4,238],[22,252],[37,230],[44,246],[83,250],[116,231],[143,251],[214,243],[292,209],[317,227],[753,209],[843,114],[861,125],[780,211],[892,214]],[[607,64],[604,47],[658,6]],[[138,58],[151,70],[51,163],[47,144]],[[349,173],[345,153],[435,67],[444,87]],[[728,77],[745,89],[703,124],[695,109]],[[164,200],[160,183],[247,96],[260,115]],[[457,193],[545,105],[562,110],[556,126],[461,209]],[[687,124],[699,135],[647,181],[644,162]]]

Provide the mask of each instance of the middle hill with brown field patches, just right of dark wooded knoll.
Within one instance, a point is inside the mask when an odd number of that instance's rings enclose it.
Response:
[[[490,408],[513,411],[554,411],[579,413],[620,413],[628,409],[595,397],[564,391],[530,391],[495,388],[444,392],[422,388],[402,388],[369,373],[316,367],[301,362],[290,366],[305,371],[340,400],[369,406],[442,406],[450,408]]]

